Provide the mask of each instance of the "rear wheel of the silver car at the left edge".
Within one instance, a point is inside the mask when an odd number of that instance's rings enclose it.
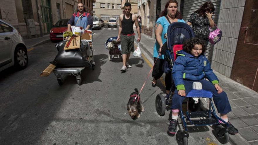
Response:
[[[14,63],[18,69],[25,69],[28,65],[28,54],[26,48],[17,47],[14,52]]]

